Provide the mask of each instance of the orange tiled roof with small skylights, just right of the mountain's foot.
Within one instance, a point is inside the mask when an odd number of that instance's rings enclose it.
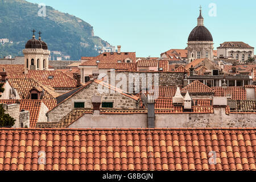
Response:
[[[104,56],[106,55],[106,56]],[[118,63],[118,61],[122,61],[130,58],[133,60],[133,63],[136,61],[136,53],[135,52],[121,52],[118,54],[117,52],[105,52],[101,53],[100,55],[93,57],[89,61],[86,61],[81,64],[81,66],[97,66],[96,61],[100,61],[100,63]]]

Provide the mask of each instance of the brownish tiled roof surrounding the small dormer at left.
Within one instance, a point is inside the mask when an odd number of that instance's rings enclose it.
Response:
[[[20,98],[23,99],[30,99],[30,90],[34,87],[44,89],[43,100],[55,100],[59,96],[59,93],[56,93],[51,88],[48,88],[33,78],[9,78],[8,81],[17,90]]]

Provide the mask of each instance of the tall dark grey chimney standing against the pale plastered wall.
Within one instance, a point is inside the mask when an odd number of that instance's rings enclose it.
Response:
[[[154,95],[147,96],[147,127],[155,127],[155,99]]]

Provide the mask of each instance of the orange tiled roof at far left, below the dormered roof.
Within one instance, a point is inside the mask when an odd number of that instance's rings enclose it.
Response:
[[[33,128],[38,122],[39,112],[42,100],[0,100],[0,104],[17,104],[20,103],[20,111],[30,111],[30,127]]]

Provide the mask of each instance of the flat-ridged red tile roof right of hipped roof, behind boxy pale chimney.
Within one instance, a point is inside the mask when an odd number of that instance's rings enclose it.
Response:
[[[232,100],[246,100],[246,90],[243,86],[228,86],[227,88],[214,86],[211,88],[214,90],[215,97],[230,95]]]

